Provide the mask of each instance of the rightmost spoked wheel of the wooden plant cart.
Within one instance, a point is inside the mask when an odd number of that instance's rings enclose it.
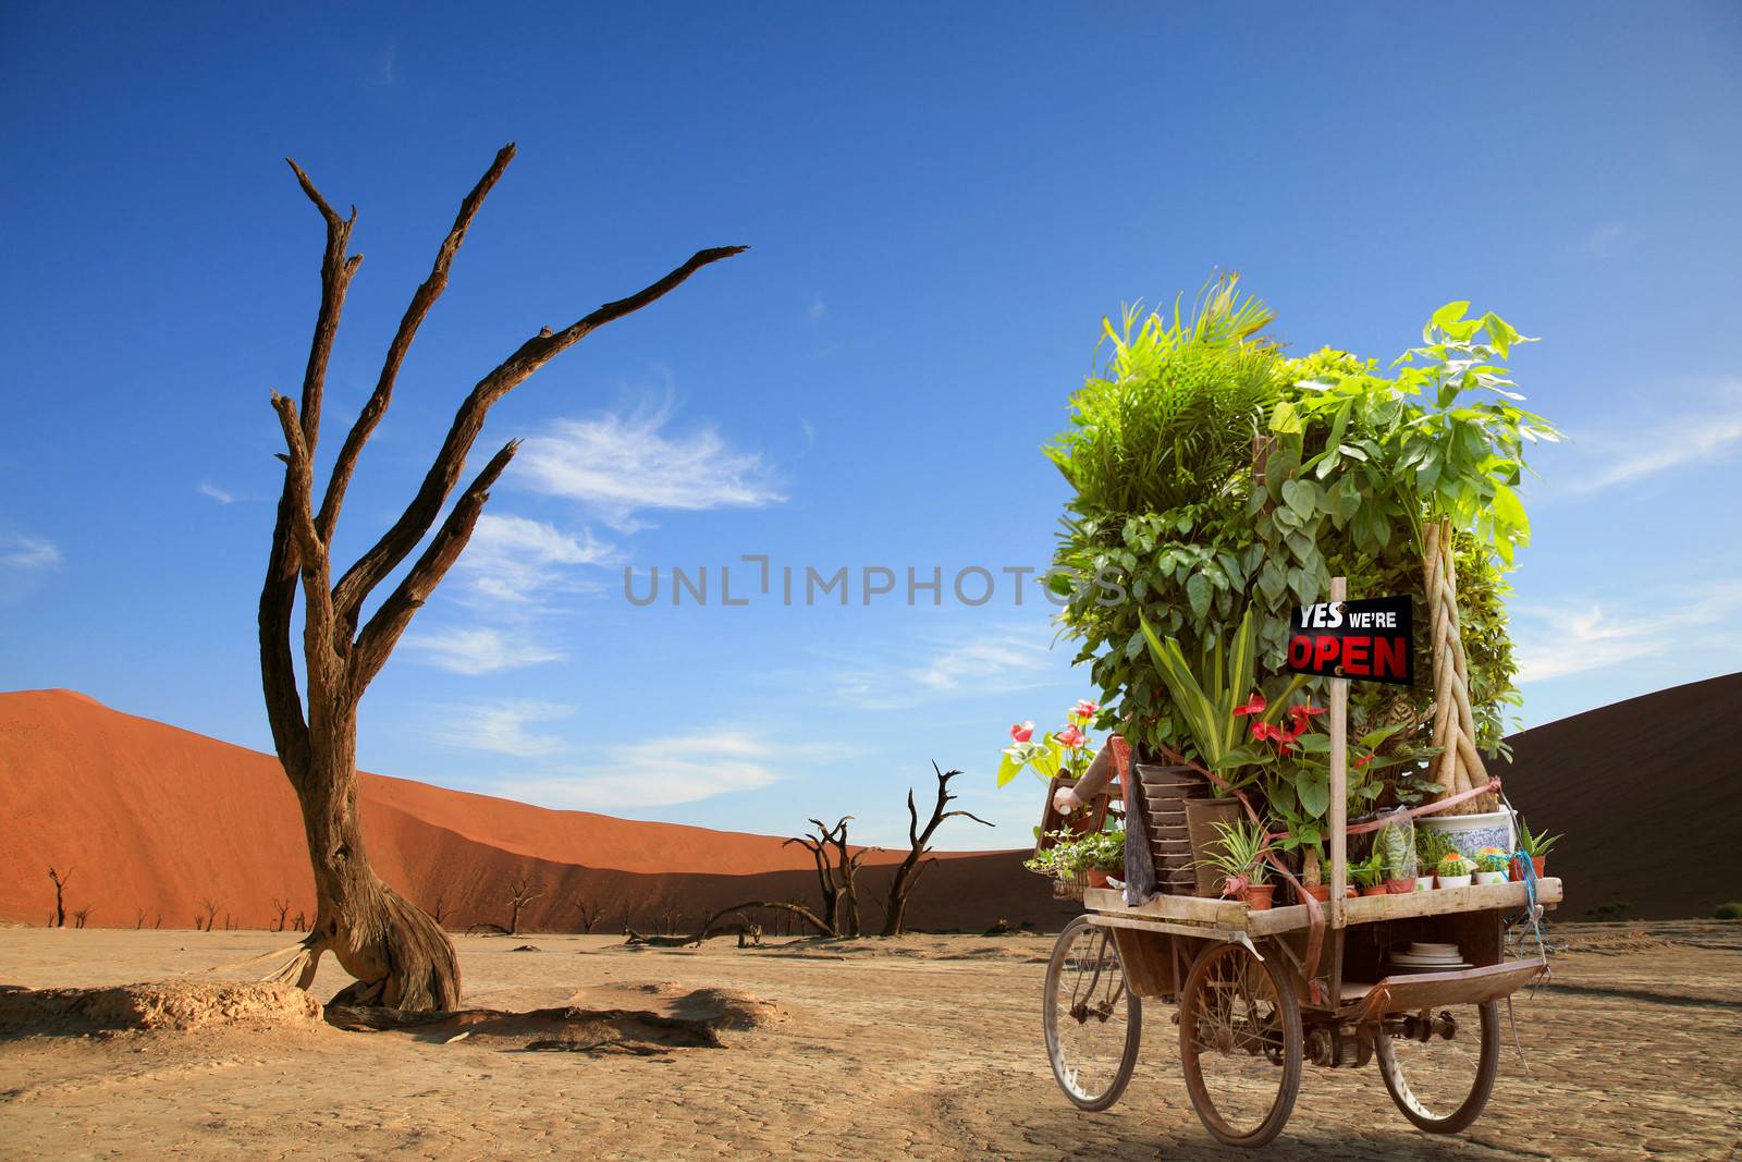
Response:
[[[1495,1002],[1387,1019],[1373,1040],[1392,1101],[1428,1134],[1456,1134],[1482,1113],[1500,1071]]]

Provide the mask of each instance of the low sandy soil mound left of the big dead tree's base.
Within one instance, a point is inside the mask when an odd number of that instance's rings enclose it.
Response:
[[[164,981],[118,988],[5,988],[0,1037],[319,1026],[321,1002],[286,984]]]

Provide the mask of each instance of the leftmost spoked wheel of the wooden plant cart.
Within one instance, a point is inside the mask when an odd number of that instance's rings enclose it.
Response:
[[[1125,1092],[1143,1038],[1143,1002],[1125,986],[1113,932],[1077,916],[1047,962],[1047,1057],[1078,1110],[1106,1110]]]

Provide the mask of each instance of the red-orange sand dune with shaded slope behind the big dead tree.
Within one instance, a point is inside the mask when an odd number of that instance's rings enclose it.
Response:
[[[577,927],[578,904],[601,929],[700,922],[746,899],[817,906],[808,852],[777,836],[636,822],[361,775],[369,855],[385,880],[449,927],[507,920],[509,883],[544,895],[523,927]],[[296,798],[270,754],[111,711],[68,690],[0,693],[0,920],[42,923],[47,868],[73,868],[68,913],[99,927],[192,927],[202,901],[237,927],[261,927],[275,897],[314,911]],[[944,854],[915,888],[909,923],[984,929],[1054,923],[1064,911],[1019,868],[1026,852]],[[888,864],[861,873],[866,925],[881,920]],[[880,866],[881,864],[881,866]],[[70,920],[71,922],[71,920]]]

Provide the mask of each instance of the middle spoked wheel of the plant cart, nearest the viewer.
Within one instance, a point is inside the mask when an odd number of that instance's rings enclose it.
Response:
[[[1204,948],[1179,991],[1179,1059],[1204,1127],[1230,1146],[1268,1145],[1301,1089],[1301,1009],[1275,958]]]

